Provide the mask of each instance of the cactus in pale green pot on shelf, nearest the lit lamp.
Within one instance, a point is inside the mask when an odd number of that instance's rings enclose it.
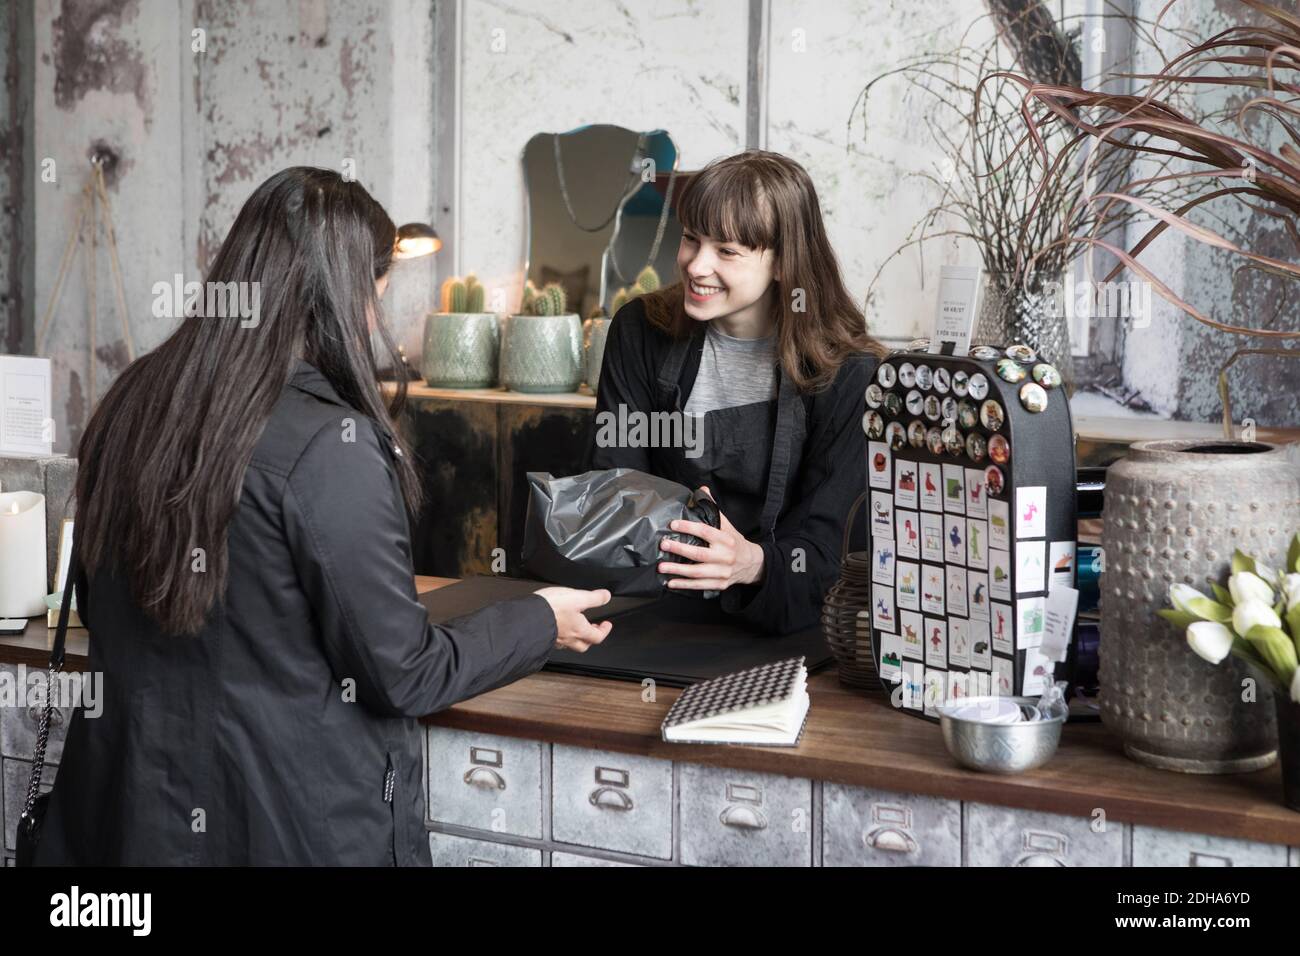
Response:
[[[484,389],[495,384],[500,325],[484,311],[484,299],[473,273],[442,284],[442,308],[424,321],[420,371],[429,385]]]

